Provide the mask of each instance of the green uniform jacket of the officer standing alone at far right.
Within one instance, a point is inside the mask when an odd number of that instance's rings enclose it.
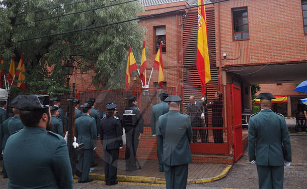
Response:
[[[257,165],[282,166],[284,160],[291,161],[290,136],[282,115],[270,109],[252,115],[248,138],[249,159],[255,160]]]

